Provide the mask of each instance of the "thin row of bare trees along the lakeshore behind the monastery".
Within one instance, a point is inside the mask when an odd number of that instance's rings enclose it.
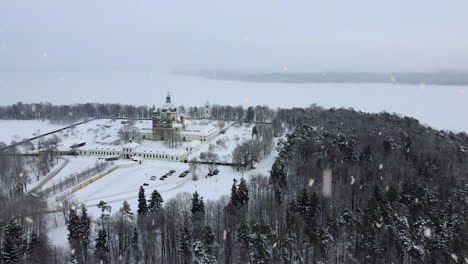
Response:
[[[135,106],[122,104],[71,104],[52,105],[51,103],[18,102],[9,106],[0,106],[0,119],[15,120],[49,120],[53,123],[72,123],[92,117],[144,119],[151,118],[156,106]],[[271,122],[275,111],[267,106],[213,105],[206,110],[206,106],[180,106],[179,114],[193,118],[213,118],[221,120]],[[207,113],[208,111],[208,113]]]

